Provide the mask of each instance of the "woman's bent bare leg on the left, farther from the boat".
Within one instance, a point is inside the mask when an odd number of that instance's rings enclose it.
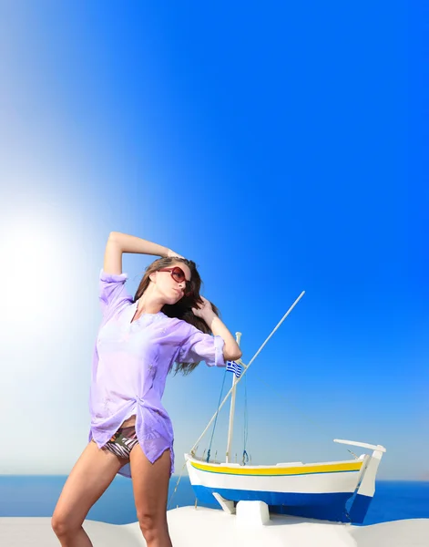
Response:
[[[127,463],[91,441],[71,470],[52,515],[52,528],[62,547],[92,547],[82,523],[87,512]]]

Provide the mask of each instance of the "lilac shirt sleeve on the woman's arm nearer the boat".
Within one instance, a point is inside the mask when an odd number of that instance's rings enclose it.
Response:
[[[223,358],[225,342],[220,336],[205,335],[198,328],[187,324],[185,336],[177,358],[178,363],[199,363],[205,361],[207,366],[226,366]]]

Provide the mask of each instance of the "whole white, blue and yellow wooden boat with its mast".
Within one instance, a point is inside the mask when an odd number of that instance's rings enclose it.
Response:
[[[224,511],[233,513],[239,501],[263,501],[273,513],[299,517],[362,523],[373,500],[375,476],[386,451],[381,445],[372,445],[352,440],[334,439],[334,442],[371,450],[354,459],[340,461],[303,463],[292,461],[275,465],[249,465],[246,459],[233,463],[230,458],[234,409],[237,385],[247,374],[250,365],[259,355],[263,346],[301,300],[304,292],[291,305],[288,312],[260,346],[248,365],[240,359],[242,374],[232,375],[232,387],[210,419],[207,428],[200,435],[189,454],[185,454],[189,480],[195,495],[202,503],[219,504]],[[237,333],[240,344],[240,333]],[[224,462],[198,457],[199,441],[218,416],[220,408],[230,400],[230,425],[226,458]],[[347,507],[346,507],[346,503]]]

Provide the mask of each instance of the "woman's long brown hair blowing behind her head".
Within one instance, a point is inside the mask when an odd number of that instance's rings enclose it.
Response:
[[[196,307],[197,303],[202,304],[202,299],[199,295],[199,290],[201,288],[201,278],[197,270],[197,264],[191,260],[170,256],[165,258],[158,258],[158,260],[149,264],[145,270],[145,274],[143,275],[142,280],[140,281],[140,284],[138,285],[138,290],[134,295],[134,302],[136,302],[138,298],[140,298],[141,295],[148,288],[148,285],[150,283],[149,275],[157,272],[161,268],[169,267],[169,265],[172,263],[184,263],[189,267],[192,294],[190,296],[183,296],[176,304],[164,304],[161,312],[165,315],[168,315],[169,317],[177,317],[178,319],[182,319],[182,321],[186,321],[187,323],[189,323],[189,325],[193,325],[198,328],[202,333],[212,335],[213,333],[209,329],[209,325],[206,324],[204,319],[201,319],[201,317],[197,317],[197,315],[194,315],[194,313],[192,312],[192,308]],[[211,302],[210,304],[213,308],[213,312],[219,316],[219,309],[215,306],[215,304]],[[174,374],[176,375],[180,371],[182,374],[187,375],[189,374],[189,372],[192,372],[192,370],[194,370],[196,366],[199,366],[199,363],[177,363]]]

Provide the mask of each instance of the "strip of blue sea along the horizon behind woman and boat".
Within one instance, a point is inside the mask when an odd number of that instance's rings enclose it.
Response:
[[[174,493],[178,479],[173,475],[170,480],[168,509],[195,503],[187,476],[180,479]],[[0,475],[0,517],[50,517],[65,482],[66,475]],[[137,521],[131,480],[117,476],[89,511],[87,519],[112,524]],[[363,525],[402,519],[429,519],[429,481],[376,482],[373,502]]]

